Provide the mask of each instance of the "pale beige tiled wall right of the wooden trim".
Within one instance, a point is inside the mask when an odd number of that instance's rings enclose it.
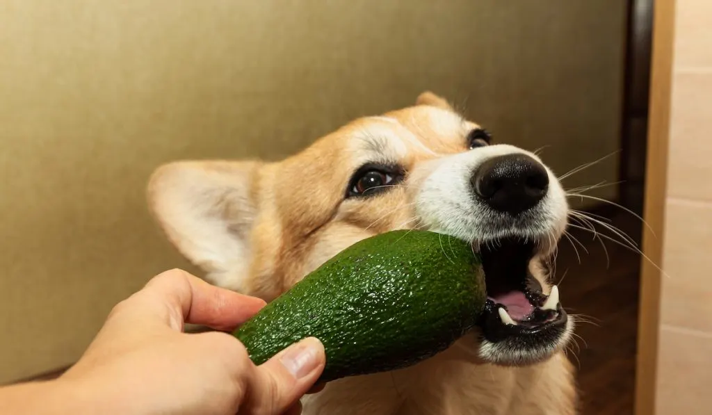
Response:
[[[712,3],[675,4],[656,414],[702,415],[712,406]]]

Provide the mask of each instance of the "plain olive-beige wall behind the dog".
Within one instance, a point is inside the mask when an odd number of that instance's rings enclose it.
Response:
[[[425,89],[557,172],[618,149],[624,2],[504,3],[0,2],[0,382],[186,266],[145,208],[159,163],[281,157]]]

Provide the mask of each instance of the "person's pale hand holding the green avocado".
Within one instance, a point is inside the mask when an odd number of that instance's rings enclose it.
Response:
[[[264,305],[182,270],[157,275],[113,308],[63,376],[0,388],[0,413],[300,414],[300,397],[319,389],[325,354],[318,340],[256,366],[225,332],[183,332],[186,322],[233,330]]]

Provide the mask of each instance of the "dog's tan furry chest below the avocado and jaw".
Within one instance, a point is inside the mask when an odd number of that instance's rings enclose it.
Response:
[[[572,364],[562,352],[540,364],[501,367],[451,347],[414,367],[331,382],[305,396],[304,415],[573,415]]]

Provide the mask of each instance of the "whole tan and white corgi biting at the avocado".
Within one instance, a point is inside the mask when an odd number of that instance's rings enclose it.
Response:
[[[150,209],[214,285],[273,300],[338,252],[394,229],[472,243],[488,300],[475,329],[412,367],[347,377],[303,398],[307,415],[571,415],[573,331],[548,281],[567,226],[557,177],[495,144],[434,93],[362,117],[280,162],[177,161]]]

